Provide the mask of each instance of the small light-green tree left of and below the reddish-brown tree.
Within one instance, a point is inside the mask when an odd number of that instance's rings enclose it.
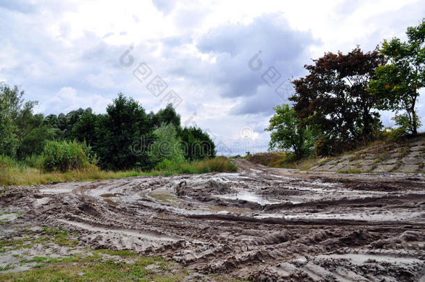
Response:
[[[273,108],[276,113],[270,118],[270,149],[292,149],[296,157],[309,155],[314,145],[314,132],[307,125],[299,125],[297,113],[288,104]]]

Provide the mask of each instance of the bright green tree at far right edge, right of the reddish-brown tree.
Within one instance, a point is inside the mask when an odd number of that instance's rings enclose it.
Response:
[[[369,84],[369,91],[378,98],[378,109],[392,110],[399,125],[417,134],[419,117],[415,111],[419,89],[425,86],[425,19],[418,26],[410,26],[406,32],[408,42],[399,38],[384,40],[380,52],[388,59],[387,65],[376,69],[376,79]],[[405,118],[403,118],[405,116]]]

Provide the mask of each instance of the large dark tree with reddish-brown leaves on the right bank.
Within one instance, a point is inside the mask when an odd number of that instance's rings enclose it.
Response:
[[[314,65],[304,65],[309,75],[291,81],[295,94],[289,99],[300,123],[314,127],[335,152],[371,139],[381,125],[378,112],[372,111],[376,97],[366,86],[383,63],[378,50],[364,53],[357,47],[348,54],[326,53]]]

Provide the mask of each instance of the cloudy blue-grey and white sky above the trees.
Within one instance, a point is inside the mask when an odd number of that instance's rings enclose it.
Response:
[[[219,155],[236,155],[267,150],[272,108],[304,64],[405,40],[425,2],[0,0],[0,15],[0,81],[38,100],[36,112],[105,113],[119,92],[146,111],[171,102]]]

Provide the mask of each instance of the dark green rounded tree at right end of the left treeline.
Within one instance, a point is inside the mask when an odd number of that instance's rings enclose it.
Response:
[[[210,136],[198,127],[183,128],[180,137],[185,150],[185,158],[193,161],[215,157],[215,144]]]

